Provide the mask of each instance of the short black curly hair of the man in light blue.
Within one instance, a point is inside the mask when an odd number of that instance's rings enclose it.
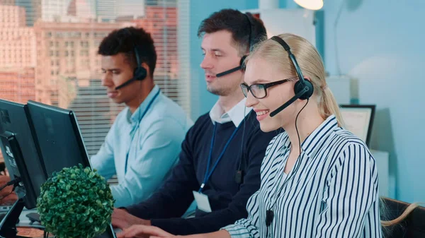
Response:
[[[153,76],[157,65],[157,52],[150,33],[143,28],[130,27],[113,30],[103,38],[98,47],[98,54],[111,56],[124,53],[130,65],[136,68],[135,47],[140,56],[140,63],[146,63]]]

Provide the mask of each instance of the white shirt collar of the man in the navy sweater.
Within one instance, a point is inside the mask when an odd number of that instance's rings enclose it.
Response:
[[[237,105],[234,105],[227,113],[225,113],[225,110],[222,109],[218,102],[215,102],[215,105],[210,110],[212,124],[215,122],[222,124],[233,121],[234,126],[239,126],[252,109],[251,107],[245,107],[245,102],[246,98],[238,102]]]

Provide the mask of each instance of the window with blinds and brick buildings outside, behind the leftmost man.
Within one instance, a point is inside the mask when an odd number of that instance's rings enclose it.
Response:
[[[39,6],[28,8],[27,16],[37,16],[34,9],[40,7],[41,1],[34,1]],[[60,1],[57,1],[60,2]],[[105,6],[103,8],[117,8],[117,4],[108,6],[113,1],[99,1]],[[86,4],[86,1],[76,1],[77,4]],[[125,5],[124,5],[125,6]],[[16,6],[18,8],[18,6]],[[53,6],[48,8],[47,18],[52,18],[57,11]],[[79,7],[77,7],[78,9]],[[190,61],[189,61],[189,0],[163,0],[163,1],[137,1],[135,4],[125,6],[126,12],[132,12],[139,16],[140,9],[145,9],[147,24],[141,23],[139,20],[128,20],[127,23],[108,22],[90,22],[84,19],[84,16],[78,15],[73,22],[61,21],[60,17],[55,19],[55,23],[43,23],[42,19],[33,19],[38,21],[38,28],[29,30],[28,38],[31,40],[28,45],[30,52],[28,56],[15,54],[15,49],[6,46],[1,52],[0,59],[0,83],[19,82],[16,90],[0,87],[0,95],[6,100],[16,102],[26,102],[28,100],[38,100],[39,102],[56,105],[63,108],[74,110],[77,114],[81,134],[84,138],[86,149],[89,155],[94,155],[102,145],[106,133],[111,128],[111,124],[115,117],[123,109],[122,105],[116,105],[106,95],[106,88],[101,86],[101,73],[98,73],[101,66],[101,57],[96,53],[98,44],[101,43],[103,37],[112,30],[122,28],[123,25],[144,25],[153,26],[147,30],[151,31],[157,48],[157,69],[155,70],[155,83],[159,85],[162,93],[167,95],[186,110],[187,114],[191,114],[191,95],[190,95]],[[134,8],[134,9],[133,9]],[[118,10],[117,10],[118,11]],[[111,11],[113,12],[113,11]],[[111,13],[113,14],[113,13]],[[111,16],[116,18],[116,16]],[[11,16],[0,13],[0,22],[3,20],[11,20]],[[0,25],[0,34],[4,39],[12,37],[11,32],[5,30]],[[179,32],[177,31],[179,29]],[[6,40],[6,41],[11,41]],[[22,45],[21,43],[16,45]],[[60,46],[60,47],[59,47]],[[61,47],[66,47],[62,49]],[[62,54],[60,54],[62,52]],[[4,55],[4,56],[3,56]],[[30,59],[30,62],[37,62],[33,71],[33,76],[26,78],[22,74],[16,73],[13,81],[9,81],[2,76],[1,64],[6,60],[6,64],[11,63],[12,59],[16,59],[17,67],[22,67],[23,57]],[[68,60],[69,59],[69,60]],[[62,60],[62,66],[60,61]],[[50,63],[49,63],[50,62]],[[179,64],[178,64],[179,63]],[[49,65],[50,64],[50,65]],[[23,71],[21,69],[20,71]],[[57,90],[58,85],[63,85],[60,73],[74,73],[74,83],[66,84],[66,90]],[[76,73],[77,72],[77,73]],[[81,75],[81,76],[80,76]],[[31,78],[32,77],[32,78]],[[60,81],[61,80],[61,81]],[[81,80],[81,84],[79,81]],[[77,81],[77,83],[75,82]],[[24,83],[33,82],[33,95],[30,97],[23,96],[25,90]],[[35,82],[35,83],[34,83]],[[87,83],[89,82],[89,83]],[[37,88],[38,90],[35,90]],[[6,95],[11,95],[10,97]],[[59,100],[61,99],[61,100]]]

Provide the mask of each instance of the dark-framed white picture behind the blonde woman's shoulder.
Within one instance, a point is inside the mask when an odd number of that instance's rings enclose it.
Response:
[[[370,147],[370,133],[375,105],[339,105],[345,129],[361,138]]]

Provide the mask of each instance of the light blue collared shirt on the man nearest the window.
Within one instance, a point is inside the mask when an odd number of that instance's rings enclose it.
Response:
[[[112,185],[115,207],[130,206],[149,198],[176,164],[181,143],[193,125],[186,112],[157,85],[131,114],[123,109],[91,165]]]

